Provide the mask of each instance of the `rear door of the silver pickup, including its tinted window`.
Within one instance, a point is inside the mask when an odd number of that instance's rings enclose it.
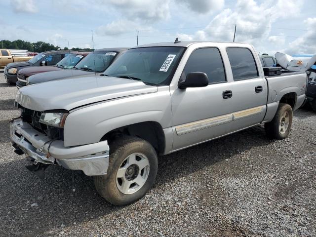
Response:
[[[254,51],[246,47],[227,47],[233,73],[234,121],[232,131],[260,123],[266,113],[267,85]]]

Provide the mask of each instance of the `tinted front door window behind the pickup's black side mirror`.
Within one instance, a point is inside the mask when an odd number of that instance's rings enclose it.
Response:
[[[209,83],[226,81],[224,65],[218,48],[198,48],[190,55],[182,77],[188,73],[202,72]]]

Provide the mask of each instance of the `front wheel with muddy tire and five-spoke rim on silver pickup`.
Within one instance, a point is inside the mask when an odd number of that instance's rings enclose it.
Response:
[[[106,175],[95,176],[98,193],[114,205],[126,205],[141,197],[154,184],[158,169],[153,146],[138,137],[122,137],[110,146]]]

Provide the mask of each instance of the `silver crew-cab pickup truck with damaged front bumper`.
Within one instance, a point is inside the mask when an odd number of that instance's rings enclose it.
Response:
[[[284,139],[306,83],[305,73],[265,77],[249,44],[143,45],[103,76],[21,88],[10,137],[29,169],[82,170],[102,197],[125,205],[153,185],[158,155],[262,123],[268,136]]]

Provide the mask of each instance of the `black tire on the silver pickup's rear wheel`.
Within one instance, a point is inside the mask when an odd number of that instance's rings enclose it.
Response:
[[[279,125],[282,122],[281,121],[282,116],[286,112],[289,118],[288,126],[286,130],[283,129],[281,132],[279,129]],[[292,120],[293,120],[292,107],[289,104],[279,103],[275,117],[272,119],[271,122],[265,123],[265,131],[266,131],[267,136],[273,139],[278,139],[278,140],[286,138],[288,133],[291,130]]]

